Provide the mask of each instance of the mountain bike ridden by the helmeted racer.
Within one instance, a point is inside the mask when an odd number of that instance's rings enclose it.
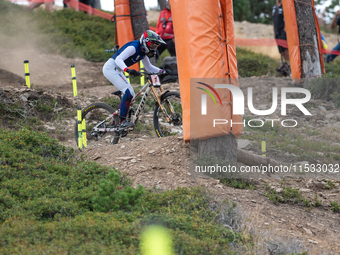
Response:
[[[119,127],[120,107],[115,110],[106,103],[93,103],[86,106],[81,113],[82,120],[86,123],[87,146],[100,145],[103,140],[109,139],[111,144],[117,144],[121,137],[125,137],[134,130],[142,112],[147,97],[151,94],[154,99],[153,126],[158,137],[183,134],[182,129],[182,105],[180,94],[176,91],[164,91],[159,81],[159,73],[140,72],[146,78],[146,84],[138,91],[131,101],[131,107],[127,114],[127,120],[135,124],[133,128],[122,129]],[[111,94],[122,99],[122,92],[115,91]],[[137,104],[137,98],[142,98]],[[135,110],[135,106],[136,107]],[[78,124],[74,129],[75,139],[78,145]],[[112,139],[112,141],[111,141]]]

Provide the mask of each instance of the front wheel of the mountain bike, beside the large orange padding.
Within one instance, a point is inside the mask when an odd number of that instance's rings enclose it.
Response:
[[[182,135],[183,119],[181,96],[178,92],[166,92],[161,98],[161,105],[156,105],[153,124],[158,137]]]

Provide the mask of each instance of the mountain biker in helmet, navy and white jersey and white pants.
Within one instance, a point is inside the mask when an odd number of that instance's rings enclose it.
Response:
[[[132,98],[135,96],[132,86],[125,78],[123,72],[133,76],[139,76],[140,73],[134,69],[129,69],[135,63],[142,61],[147,71],[152,73],[166,73],[166,71],[153,66],[149,58],[155,56],[156,49],[159,45],[166,44],[159,35],[151,30],[146,30],[139,40],[131,41],[121,47],[113,56],[104,64],[104,76],[122,92],[123,98],[120,103],[120,122],[119,127],[122,129],[133,127],[135,124],[126,120]]]

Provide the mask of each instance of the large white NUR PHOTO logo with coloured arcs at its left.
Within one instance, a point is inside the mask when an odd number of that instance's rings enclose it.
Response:
[[[203,82],[197,82],[200,85],[205,86],[206,88],[210,89],[218,98],[220,105],[222,106],[222,100],[219,94],[217,93],[216,89],[227,89],[232,94],[233,98],[233,114],[234,115],[244,115],[244,94],[242,90],[234,85],[231,84],[215,84],[214,87],[205,84]],[[207,94],[211,97],[213,100],[215,106],[217,106],[217,102],[213,96],[213,94],[206,88],[196,87],[197,89],[200,89],[206,94],[201,94],[201,115],[207,115],[208,110],[209,111],[216,111],[216,109],[208,109],[207,107]],[[304,98],[287,98],[287,94],[291,93],[301,93],[304,94]],[[304,103],[307,103],[311,99],[311,93],[309,90],[304,88],[291,88],[291,87],[282,87],[281,88],[281,116],[287,115],[287,105],[295,105],[304,115],[312,115],[304,106]],[[247,106],[251,113],[257,115],[257,116],[267,116],[272,113],[274,113],[278,106],[278,88],[272,88],[272,106],[270,109],[267,110],[257,110],[254,107],[253,104],[253,88],[248,87],[247,88]],[[265,122],[271,122],[271,126],[274,127],[275,122],[280,122],[283,127],[296,127],[298,125],[298,122],[295,119],[251,119],[248,120],[246,123],[246,120],[243,120],[243,122],[232,122],[232,120],[227,119],[213,119],[213,127],[216,127],[216,125],[225,125],[230,123],[230,126],[233,125],[243,125],[243,127],[246,127],[246,124],[248,124],[249,127],[262,127]]]

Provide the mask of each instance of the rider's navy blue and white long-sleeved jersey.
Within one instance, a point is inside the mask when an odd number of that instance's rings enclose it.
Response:
[[[151,65],[149,58],[142,51],[142,46],[140,45],[139,40],[126,43],[115,54],[113,54],[111,58],[115,60],[116,65],[122,71],[125,71],[133,64],[139,63],[139,61],[143,62],[145,69],[149,72],[161,71],[161,69]]]

